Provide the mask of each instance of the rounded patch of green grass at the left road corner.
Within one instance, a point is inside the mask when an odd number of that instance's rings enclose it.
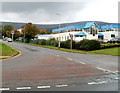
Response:
[[[18,51],[12,49],[10,46],[7,46],[3,43],[0,43],[0,57],[13,56],[18,54]]]

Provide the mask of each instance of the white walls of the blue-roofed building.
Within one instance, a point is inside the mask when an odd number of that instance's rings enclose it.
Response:
[[[84,31],[83,32],[86,34],[86,36],[83,36],[83,37],[75,37],[74,36],[75,34],[80,33],[80,32],[81,31],[72,31],[72,32],[60,33],[60,41],[66,41],[68,39],[71,39],[69,34],[73,35],[73,40],[75,40],[75,41],[80,41],[80,40],[83,40],[83,39],[98,39],[98,34],[93,36],[93,34],[89,34],[89,33],[84,32]],[[102,33],[104,35],[103,39],[108,39],[108,40],[112,39],[111,34],[115,34],[115,36],[120,35],[118,33],[118,31],[107,31],[107,32],[98,32],[98,33]],[[39,35],[38,36],[38,39],[50,39],[50,38],[55,38],[56,40],[59,40],[59,33],[50,34],[50,35]]]

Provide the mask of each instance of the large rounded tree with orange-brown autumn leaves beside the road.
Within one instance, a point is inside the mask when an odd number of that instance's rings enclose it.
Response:
[[[30,39],[34,39],[35,35],[37,35],[38,32],[39,28],[36,25],[33,25],[32,23],[27,23],[24,26],[23,34],[25,34],[27,42],[29,42]]]

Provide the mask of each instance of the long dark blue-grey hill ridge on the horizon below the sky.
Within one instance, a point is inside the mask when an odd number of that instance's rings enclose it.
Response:
[[[64,26],[68,26],[68,25],[84,25],[87,22],[93,22],[93,21],[81,21],[81,22],[63,23],[60,26],[64,27]],[[94,22],[96,22],[98,25],[110,24],[110,23],[101,22],[101,21],[94,21]],[[21,22],[2,22],[2,25],[6,25],[6,24],[13,25],[14,29],[20,29],[26,23],[21,23]],[[39,27],[39,29],[46,29],[47,32],[51,32],[52,29],[58,28],[58,24],[35,24],[35,25],[37,25]]]

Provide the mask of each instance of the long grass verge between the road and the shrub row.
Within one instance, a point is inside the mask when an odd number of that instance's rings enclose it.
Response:
[[[16,42],[16,43],[22,43],[22,42]],[[94,50],[94,51],[82,51],[82,50],[74,50],[74,49],[71,50],[71,49],[65,49],[65,48],[58,49],[58,47],[54,47],[54,46],[46,46],[46,45],[38,45],[38,44],[30,44],[30,43],[23,43],[23,44],[50,48],[50,49],[55,49],[55,50],[61,50],[61,51],[66,51],[66,52],[73,52],[73,53],[120,56],[120,52],[118,52],[118,50],[120,50],[120,47],[100,49],[100,50]]]

